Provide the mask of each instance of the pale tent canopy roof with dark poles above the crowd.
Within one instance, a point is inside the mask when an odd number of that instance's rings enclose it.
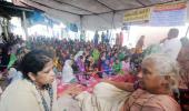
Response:
[[[19,6],[43,10],[63,22],[74,22],[83,29],[103,30],[122,26],[126,10],[150,7],[177,0],[16,0]]]

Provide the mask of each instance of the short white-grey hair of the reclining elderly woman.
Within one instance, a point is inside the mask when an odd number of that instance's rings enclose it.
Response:
[[[150,54],[143,59],[143,62],[152,62],[160,75],[169,77],[169,84],[171,89],[178,88],[179,65],[176,60],[169,58],[167,54],[156,53]]]

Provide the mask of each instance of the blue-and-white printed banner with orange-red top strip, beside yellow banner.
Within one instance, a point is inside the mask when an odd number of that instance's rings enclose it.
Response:
[[[175,27],[183,26],[187,18],[187,3],[172,2],[153,7],[150,26]]]

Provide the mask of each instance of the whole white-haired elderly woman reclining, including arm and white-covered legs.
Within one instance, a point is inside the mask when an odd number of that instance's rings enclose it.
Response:
[[[142,61],[141,70],[138,89],[133,83],[106,80],[93,93],[76,93],[81,111],[181,111],[173,99],[177,62],[165,54],[151,54]]]

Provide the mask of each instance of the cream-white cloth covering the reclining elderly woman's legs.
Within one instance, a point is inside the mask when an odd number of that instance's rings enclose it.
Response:
[[[93,93],[84,91],[76,99],[81,111],[119,111],[129,93],[112,84],[100,82],[93,88]]]

